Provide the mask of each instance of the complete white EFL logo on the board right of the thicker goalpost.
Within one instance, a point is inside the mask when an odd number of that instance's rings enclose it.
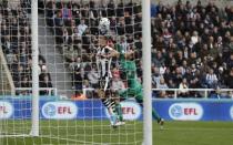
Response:
[[[174,103],[169,108],[169,115],[179,121],[199,121],[203,115],[203,108],[196,103]]]

